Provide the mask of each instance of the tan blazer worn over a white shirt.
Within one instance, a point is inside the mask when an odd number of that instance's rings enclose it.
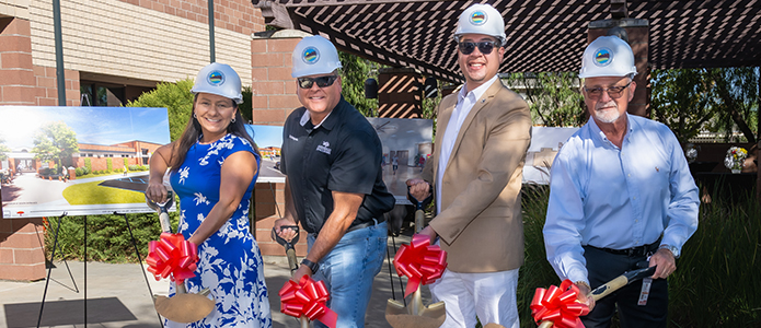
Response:
[[[457,105],[450,94],[439,104],[437,136],[443,136]],[[526,102],[497,80],[476,101],[460,128],[441,179],[441,212],[430,221],[454,272],[495,272],[523,263],[520,188],[531,114]],[[423,179],[436,183],[437,139]],[[436,189],[434,189],[436,190]]]

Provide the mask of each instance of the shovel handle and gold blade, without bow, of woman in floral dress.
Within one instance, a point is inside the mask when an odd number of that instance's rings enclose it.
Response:
[[[159,212],[161,231],[165,233],[172,233],[169,212],[166,210],[172,207],[173,202],[174,196],[172,191],[168,192],[166,202],[161,204],[146,197],[148,207]],[[176,284],[175,291],[176,293],[172,297],[161,295],[153,296],[153,306],[164,318],[175,323],[195,323],[208,316],[215,308],[214,300],[207,297],[209,289],[204,289],[198,294],[188,294],[185,289],[185,282],[182,282]]]

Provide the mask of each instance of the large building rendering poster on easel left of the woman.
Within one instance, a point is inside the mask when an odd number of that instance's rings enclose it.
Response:
[[[3,218],[152,212],[166,108],[0,106]]]

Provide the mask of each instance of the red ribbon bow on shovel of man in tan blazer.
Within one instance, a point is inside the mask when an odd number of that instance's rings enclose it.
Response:
[[[394,268],[399,276],[407,277],[404,297],[408,296],[419,284],[429,284],[441,278],[447,268],[447,251],[437,245],[430,245],[430,237],[415,234],[410,245],[402,245],[394,256]]]

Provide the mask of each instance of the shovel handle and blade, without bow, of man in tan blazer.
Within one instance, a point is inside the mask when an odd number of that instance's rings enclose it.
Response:
[[[422,202],[415,199],[407,192],[410,201],[415,206],[415,231],[420,232],[425,223],[424,208],[430,203],[431,196],[424,199]],[[447,319],[447,311],[443,302],[434,303],[431,305],[423,305],[420,295],[420,285],[417,291],[412,294],[412,305],[410,308],[396,300],[389,300],[385,305],[385,320],[394,328],[436,328]]]

